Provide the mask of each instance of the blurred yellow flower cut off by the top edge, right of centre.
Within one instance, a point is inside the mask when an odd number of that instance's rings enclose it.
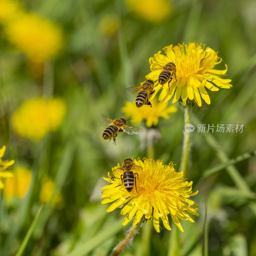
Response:
[[[151,22],[164,20],[172,11],[168,0],[126,0],[126,2],[132,12]]]

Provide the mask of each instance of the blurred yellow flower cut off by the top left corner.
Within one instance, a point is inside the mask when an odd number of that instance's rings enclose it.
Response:
[[[5,24],[22,14],[20,1],[0,0],[0,23]]]

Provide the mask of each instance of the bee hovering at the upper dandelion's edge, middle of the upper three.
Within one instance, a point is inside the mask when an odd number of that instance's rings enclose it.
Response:
[[[139,92],[137,94],[136,101],[135,101],[137,108],[140,108],[143,105],[148,105],[152,108],[152,104],[149,101],[149,96],[155,92],[154,82],[152,80],[148,79],[140,86],[130,87],[127,89],[133,93]]]

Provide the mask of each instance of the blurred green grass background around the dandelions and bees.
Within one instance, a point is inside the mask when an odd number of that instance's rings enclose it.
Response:
[[[112,119],[124,115],[124,101],[134,99],[125,88],[145,80],[148,59],[154,53],[166,45],[194,41],[219,51],[233,87],[209,92],[211,105],[194,106],[198,120],[194,118],[192,124],[244,124],[244,130],[193,133],[188,180],[194,181],[193,190],[199,190],[194,200],[200,204],[200,217],[194,218],[194,224],[181,221],[184,233],[179,235],[174,227],[158,234],[147,223],[123,255],[202,255],[206,195],[209,255],[256,254],[255,158],[202,178],[205,169],[255,150],[256,1],[164,1],[160,10],[154,8],[158,1],[149,2],[155,3],[147,7],[147,1],[137,1],[145,5],[143,14],[121,0],[21,1],[23,8],[63,31],[60,52],[42,65],[20,53],[6,38],[4,25],[0,26],[0,146],[7,148],[4,159],[15,160],[13,168],[32,171],[23,198],[7,200],[1,195],[0,255],[17,252],[41,204],[45,177],[54,182],[59,200],[45,205],[24,255],[111,252],[129,227],[121,225],[120,209],[106,213],[108,206],[101,205],[100,187],[106,184],[102,177],[124,157],[143,158],[148,153],[140,147],[140,136],[120,134],[116,146],[102,140],[106,126],[101,114]],[[65,100],[63,124],[42,140],[18,136],[13,113],[22,102],[42,95]],[[158,124],[161,139],[154,151],[155,159],[179,166],[183,108],[176,106],[178,111]],[[146,129],[143,123],[139,126]]]

